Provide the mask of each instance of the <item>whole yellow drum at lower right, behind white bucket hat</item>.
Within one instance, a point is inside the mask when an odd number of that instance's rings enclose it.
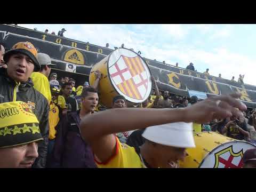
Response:
[[[215,132],[195,134],[196,148],[187,149],[188,156],[180,162],[183,168],[239,168],[247,149],[255,148],[249,142],[225,137]]]

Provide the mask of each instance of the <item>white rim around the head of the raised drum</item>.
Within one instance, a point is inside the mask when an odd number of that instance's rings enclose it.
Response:
[[[134,52],[134,51],[132,51],[132,50],[130,50],[130,49],[126,49],[126,48],[118,48],[118,49],[116,49],[116,50],[121,50],[121,49],[125,49],[125,50],[128,50],[128,51],[131,51],[131,52],[135,53],[137,56],[139,56],[140,59],[142,59],[142,61],[143,61],[143,62],[145,63],[145,65],[147,66],[150,76],[152,75],[152,74],[151,74],[151,71],[149,70],[149,66],[148,66],[147,62],[146,62],[138,53],[136,53],[136,52]],[[115,50],[115,51],[116,51],[116,50]],[[130,102],[132,102],[132,103],[142,103],[142,102],[146,101],[146,100],[148,99],[148,97],[150,96],[150,93],[152,92],[153,84],[151,84],[151,89],[150,89],[150,91],[147,90],[147,92],[148,92],[148,93],[146,93],[146,96],[147,96],[147,97],[145,97],[145,99],[143,99],[143,100],[138,100],[138,99],[133,99],[133,98],[127,97],[127,95],[125,95],[125,94],[122,93],[121,91],[119,92],[119,91],[116,89],[116,85],[114,85],[114,83],[112,82],[111,77],[110,77],[110,73],[109,73],[109,59],[111,58],[111,55],[112,55],[115,51],[113,51],[113,52],[111,52],[111,53],[109,54],[108,60],[107,60],[108,78],[109,78],[109,82],[110,82],[111,85],[113,86],[115,92],[116,92],[117,94],[122,95],[127,101],[130,101]]]

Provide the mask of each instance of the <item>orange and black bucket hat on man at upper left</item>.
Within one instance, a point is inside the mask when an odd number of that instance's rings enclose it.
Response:
[[[19,42],[12,46],[10,51],[4,54],[4,61],[8,61],[9,57],[16,53],[22,53],[27,55],[35,65],[34,71],[37,72],[41,69],[41,66],[37,60],[37,50],[35,46],[30,42]]]

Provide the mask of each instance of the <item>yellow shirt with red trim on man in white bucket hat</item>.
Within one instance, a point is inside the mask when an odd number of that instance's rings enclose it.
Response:
[[[121,143],[116,137],[116,153],[109,161],[99,163],[95,159],[99,168],[145,168],[134,147]]]

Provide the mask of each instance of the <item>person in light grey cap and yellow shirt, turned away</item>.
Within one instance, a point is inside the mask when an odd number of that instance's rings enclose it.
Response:
[[[52,64],[51,58],[45,53],[38,53],[38,62],[41,65],[41,70],[33,72],[30,77],[34,83],[34,88],[42,93],[50,104],[52,95],[48,77],[51,73],[51,66],[56,65]]]

